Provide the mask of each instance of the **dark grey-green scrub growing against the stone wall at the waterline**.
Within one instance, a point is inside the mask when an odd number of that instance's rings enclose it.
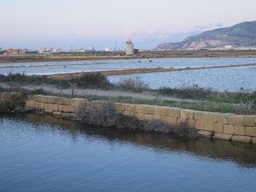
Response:
[[[189,136],[192,132],[186,124],[174,126],[158,120],[140,121],[136,117],[122,115],[116,112],[115,104],[112,102],[104,103],[98,110],[88,111],[84,107],[77,112],[74,119],[88,125],[99,125],[116,129],[140,129],[179,136]]]

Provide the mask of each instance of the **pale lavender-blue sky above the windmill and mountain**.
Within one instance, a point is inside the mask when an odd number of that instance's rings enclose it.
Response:
[[[0,47],[151,49],[255,21],[255,0],[0,0]]]

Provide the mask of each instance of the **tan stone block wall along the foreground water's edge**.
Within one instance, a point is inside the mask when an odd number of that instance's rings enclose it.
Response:
[[[72,116],[80,107],[88,110],[99,109],[104,101],[68,99],[64,97],[28,95],[27,107],[43,109],[55,116]],[[215,133],[216,139],[256,143],[256,115],[221,114],[216,112],[194,111],[176,107],[132,105],[116,103],[116,111],[135,116],[140,120],[160,120],[170,125],[186,122],[190,129],[209,136]]]

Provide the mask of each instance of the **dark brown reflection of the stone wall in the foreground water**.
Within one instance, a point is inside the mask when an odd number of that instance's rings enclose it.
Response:
[[[132,143],[137,147],[147,148],[159,153],[179,152],[196,158],[207,158],[210,161],[228,161],[248,168],[256,168],[256,145],[242,144],[221,140],[181,139],[171,135],[141,132],[137,130],[113,130],[97,126],[86,126],[75,121],[58,119],[53,116],[40,116],[35,114],[16,115],[15,120],[26,120],[39,126],[48,126],[52,132],[61,130],[61,134],[70,135],[73,142],[86,137],[88,140],[103,139],[110,144],[126,145]],[[36,126],[36,127],[37,127]],[[40,129],[38,129],[40,132]],[[42,133],[45,130],[42,130]],[[60,132],[58,132],[60,134]]]

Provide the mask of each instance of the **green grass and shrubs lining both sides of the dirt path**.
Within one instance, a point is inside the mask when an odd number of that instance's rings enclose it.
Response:
[[[256,91],[239,92],[217,92],[211,88],[201,88],[196,85],[192,87],[170,88],[163,87],[158,90],[150,90],[145,82],[140,79],[127,79],[117,83],[111,83],[106,76],[99,73],[85,74],[81,77],[72,77],[68,79],[52,79],[44,76],[27,76],[24,74],[0,75],[0,82],[7,82],[11,85],[56,85],[59,88],[71,88],[72,95],[66,97],[77,97],[75,90],[77,88],[101,88],[114,89],[132,92],[147,91],[156,95],[178,97],[180,99],[191,99],[195,101],[169,101],[161,100],[156,96],[154,100],[134,99],[132,97],[106,97],[106,96],[83,96],[89,100],[106,100],[112,102],[124,102],[129,104],[148,104],[160,106],[181,107],[184,109],[193,109],[210,112],[232,112],[236,114],[256,114]],[[43,90],[35,90],[29,93],[47,94]],[[51,94],[52,93],[48,93]],[[200,101],[200,102],[198,102]]]

